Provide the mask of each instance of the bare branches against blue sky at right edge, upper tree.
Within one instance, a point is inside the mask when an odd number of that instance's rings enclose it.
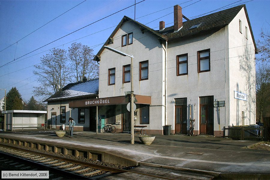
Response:
[[[257,41],[258,52],[261,55],[257,61],[270,62],[270,35],[267,30],[261,29],[260,40]]]

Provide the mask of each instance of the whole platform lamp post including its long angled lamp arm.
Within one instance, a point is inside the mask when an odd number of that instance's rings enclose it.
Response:
[[[122,56],[128,56],[131,58],[131,63],[130,63],[130,83],[131,83],[131,95],[130,95],[130,121],[131,121],[131,144],[134,144],[134,91],[133,91],[133,75],[132,75],[132,61],[134,56],[133,55],[128,55],[124,52],[121,52],[117,49],[113,49],[109,46],[103,46],[106,49],[109,49],[110,51],[113,51],[117,54],[120,54]]]

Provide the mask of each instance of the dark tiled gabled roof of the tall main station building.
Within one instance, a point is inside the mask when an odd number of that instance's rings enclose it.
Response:
[[[125,22],[130,21],[130,22],[135,23],[136,25],[138,25],[140,27],[142,32],[149,31],[149,32],[153,33],[154,35],[156,35],[160,40],[171,41],[171,40],[175,40],[176,38],[183,38],[183,37],[187,37],[189,35],[195,35],[198,33],[203,33],[205,31],[209,31],[209,30],[216,30],[217,31],[217,30],[227,26],[243,7],[244,7],[245,14],[246,14],[247,22],[248,22],[248,25],[250,28],[250,33],[251,33],[251,37],[253,40],[253,44],[255,46],[255,53],[258,53],[255,39],[253,36],[253,32],[252,32],[252,29],[250,26],[250,21],[249,21],[248,15],[247,15],[247,9],[246,9],[246,6],[244,4],[236,6],[236,7],[232,7],[229,9],[225,9],[222,11],[218,11],[216,13],[212,13],[212,14],[209,14],[206,16],[198,17],[196,19],[185,21],[185,22],[183,22],[183,28],[180,29],[178,32],[174,32],[173,26],[167,27],[162,31],[156,31],[156,30],[149,28],[148,26],[143,25],[140,22],[135,21],[134,19],[131,19],[127,16],[124,16],[123,19],[121,20],[121,22],[116,27],[116,29],[110,35],[108,40],[104,43],[104,45],[106,45],[106,46],[108,45],[108,43],[110,42],[110,38],[113,38],[113,36],[116,34],[116,32],[122,26],[122,24]],[[199,24],[199,23],[201,23],[201,24],[198,28],[189,29],[191,26]],[[100,61],[100,55],[103,52],[103,50],[104,50],[104,47],[102,46],[101,49],[98,51],[97,55],[95,56],[94,60]]]

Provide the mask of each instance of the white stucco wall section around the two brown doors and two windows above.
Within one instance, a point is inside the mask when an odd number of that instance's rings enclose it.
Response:
[[[195,111],[195,127],[199,130],[199,97],[214,96],[214,101],[225,101],[225,28],[215,33],[205,33],[199,36],[183,38],[168,43],[168,124],[174,129],[174,99],[187,98],[187,104],[192,105],[192,115]],[[197,52],[210,49],[210,71],[198,73]],[[176,76],[176,56],[188,54],[188,75]],[[189,106],[187,126],[189,129]],[[225,107],[220,107],[220,122],[218,123],[217,108],[214,108],[214,131],[222,131],[225,122]]]

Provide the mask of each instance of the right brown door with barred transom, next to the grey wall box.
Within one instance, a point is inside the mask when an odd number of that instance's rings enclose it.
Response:
[[[214,134],[214,96],[200,97],[200,134]]]

